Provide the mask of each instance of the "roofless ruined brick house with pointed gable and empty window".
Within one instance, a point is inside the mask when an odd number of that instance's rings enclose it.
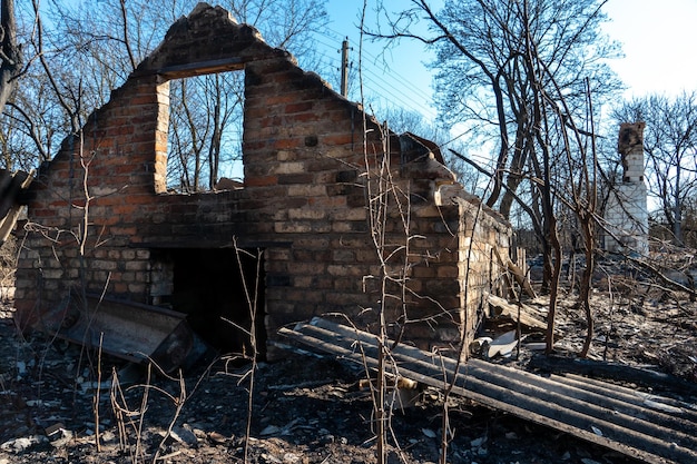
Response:
[[[168,192],[169,80],[212,72],[244,72],[244,188]],[[501,274],[493,256],[508,255],[510,227],[462,191],[433,144],[382,132],[255,29],[200,3],[91,115],[81,140],[67,138],[38,172],[17,270],[18,324],[40,328],[41,315],[82,286],[186,313],[213,344],[232,349],[220,316],[245,324],[242,279],[259,275],[259,335],[271,342],[279,327],[326,313],[374,328],[375,312],[366,309],[382,294],[371,278],[380,266],[367,208],[376,190],[369,187],[380,161],[373,154],[386,146],[411,237],[405,300],[392,305],[389,319],[403,323],[406,312],[421,320],[408,325],[405,338],[425,348],[472,337],[483,295]],[[82,253],[67,231],[82,227],[84,180],[90,199]],[[381,224],[381,253],[403,257],[399,208]],[[236,248],[252,251],[242,270]]]

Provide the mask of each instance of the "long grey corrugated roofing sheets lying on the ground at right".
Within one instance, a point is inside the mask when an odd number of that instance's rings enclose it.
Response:
[[[314,318],[283,335],[371,368],[377,366],[377,338]],[[523,419],[606,446],[647,463],[697,462],[697,406],[578,377],[541,377],[520,369],[470,359],[465,364],[397,345],[399,375],[443,388]]]

